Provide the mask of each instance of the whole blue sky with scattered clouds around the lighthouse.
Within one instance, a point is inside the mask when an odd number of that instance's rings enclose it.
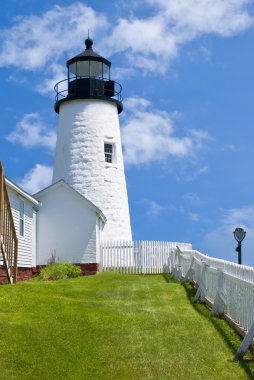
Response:
[[[2,0],[0,159],[34,193],[51,181],[56,82],[87,30],[123,86],[133,238],[192,242],[254,265],[254,1]]]

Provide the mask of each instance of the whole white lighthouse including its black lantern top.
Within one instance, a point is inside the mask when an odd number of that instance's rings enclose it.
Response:
[[[67,61],[68,78],[55,87],[53,183],[64,180],[102,210],[104,241],[132,240],[118,118],[121,86],[111,80],[111,62],[93,51],[93,41],[87,38],[85,44]]]

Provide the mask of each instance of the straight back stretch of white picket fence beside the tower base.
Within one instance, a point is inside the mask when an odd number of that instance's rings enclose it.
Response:
[[[173,250],[191,249],[189,243],[161,241],[104,242],[101,244],[100,271],[126,274],[168,272]]]

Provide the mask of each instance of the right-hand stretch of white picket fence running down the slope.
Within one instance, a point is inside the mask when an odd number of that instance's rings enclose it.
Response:
[[[212,315],[225,317],[245,338],[236,353],[242,357],[254,337],[254,268],[208,257],[198,251],[176,249],[169,271],[175,280],[196,283],[195,301],[212,306]]]

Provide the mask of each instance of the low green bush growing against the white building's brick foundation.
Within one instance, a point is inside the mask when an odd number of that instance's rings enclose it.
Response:
[[[77,265],[53,262],[41,270],[39,279],[43,281],[64,280],[78,277],[80,273],[81,269]]]

